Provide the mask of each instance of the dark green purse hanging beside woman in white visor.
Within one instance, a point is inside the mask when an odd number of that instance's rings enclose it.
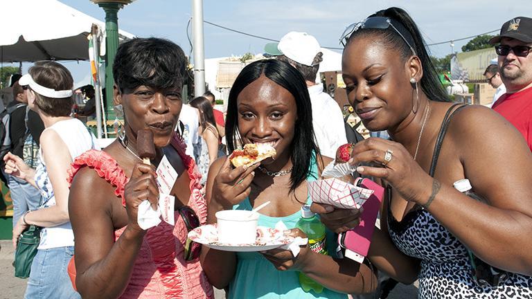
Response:
[[[15,250],[15,277],[28,278],[30,276],[31,264],[33,257],[37,254],[37,247],[41,242],[41,228],[30,225],[24,233],[19,235],[19,242]]]

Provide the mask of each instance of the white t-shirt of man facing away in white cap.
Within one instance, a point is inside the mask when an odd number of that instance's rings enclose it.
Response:
[[[312,103],[312,127],[319,150],[323,156],[335,158],[338,147],[347,143],[342,109],[323,92],[321,84],[308,87],[308,93]]]

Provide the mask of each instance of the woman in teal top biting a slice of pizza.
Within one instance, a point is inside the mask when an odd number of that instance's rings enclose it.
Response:
[[[219,210],[260,210],[259,226],[275,227],[282,221],[294,228],[301,206],[310,204],[307,182],[319,178],[331,158],[321,156],[314,142],[312,110],[305,80],[290,64],[260,60],[242,69],[229,93],[226,119],[229,152],[236,145],[268,143],[275,158],[250,167],[234,168],[229,158],[216,160],[206,185],[208,223]],[[357,217],[358,210],[350,212]],[[305,235],[299,229],[292,236]],[[228,298],[347,298],[346,293],[369,293],[376,287],[375,273],[335,255],[337,240],[328,231],[329,255],[301,247],[276,248],[262,253],[234,253],[202,247],[202,265],[209,280],[220,289],[229,287]],[[325,287],[321,293],[303,291],[299,272]]]

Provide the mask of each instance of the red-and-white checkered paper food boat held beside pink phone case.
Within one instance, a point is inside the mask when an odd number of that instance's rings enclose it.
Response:
[[[344,209],[360,209],[373,194],[373,190],[360,188],[336,178],[310,181],[308,189],[312,201]]]

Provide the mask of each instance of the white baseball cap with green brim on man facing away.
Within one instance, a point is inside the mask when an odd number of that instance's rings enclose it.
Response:
[[[294,62],[312,66],[314,57],[321,52],[321,46],[312,35],[291,31],[283,36],[278,43],[266,44],[264,51],[268,55],[285,55]]]

